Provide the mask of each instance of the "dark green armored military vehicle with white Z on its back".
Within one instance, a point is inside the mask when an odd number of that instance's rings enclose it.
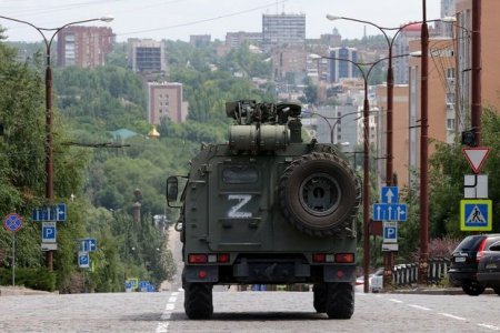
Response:
[[[303,142],[301,105],[227,103],[229,142],[204,144],[167,180],[183,243],[184,311],[213,313],[214,284],[308,284],[331,319],[354,311],[356,222],[361,189],[334,144]]]

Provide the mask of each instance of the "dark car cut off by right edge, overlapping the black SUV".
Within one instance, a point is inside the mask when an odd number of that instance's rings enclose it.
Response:
[[[500,241],[491,244],[479,260],[478,282],[492,287],[500,296]]]

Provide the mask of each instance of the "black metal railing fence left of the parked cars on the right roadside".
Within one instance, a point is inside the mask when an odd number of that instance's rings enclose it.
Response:
[[[450,260],[443,258],[433,258],[428,261],[428,275],[429,283],[437,284],[443,279],[448,278],[448,269],[450,266]],[[392,269],[392,283],[397,286],[409,285],[417,283],[418,281],[419,265],[399,264]]]

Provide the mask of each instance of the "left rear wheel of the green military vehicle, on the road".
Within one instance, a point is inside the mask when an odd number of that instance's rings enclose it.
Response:
[[[189,319],[209,319],[213,314],[212,285],[208,283],[184,284],[184,311]]]

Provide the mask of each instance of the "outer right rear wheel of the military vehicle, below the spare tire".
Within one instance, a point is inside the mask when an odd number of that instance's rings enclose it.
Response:
[[[327,314],[330,319],[350,319],[354,313],[354,287],[348,282],[327,283]]]

